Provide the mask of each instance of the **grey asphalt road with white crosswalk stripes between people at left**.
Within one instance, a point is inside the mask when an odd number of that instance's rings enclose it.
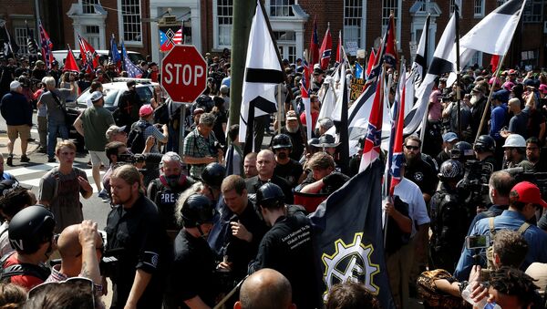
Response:
[[[36,111],[33,115],[33,122],[36,124]],[[7,127],[5,125],[5,119],[0,118],[0,151],[4,154],[4,157],[7,158]],[[40,178],[46,174],[47,170],[58,166],[58,163],[47,163],[47,155],[44,153],[37,152],[38,149],[38,131],[36,125],[31,129],[31,136],[36,141],[28,143],[27,156],[30,158],[30,162],[23,163],[19,161],[21,155],[20,141],[17,139],[15,141],[14,148],[14,166],[9,167],[4,166],[4,170],[13,174],[19,182],[21,182],[25,187],[30,188],[35,194],[36,198],[38,196],[38,187],[40,185]],[[91,166],[88,165],[89,155],[88,153],[77,153],[77,158],[74,162],[74,166],[85,170],[88,174],[88,181],[93,187],[93,195],[85,200],[80,198],[80,201],[83,204],[84,218],[92,221],[98,222],[98,228],[104,229],[107,225],[107,215],[110,210],[110,205],[103,202],[97,197],[97,187],[91,176]],[[105,170],[101,171],[101,177],[104,174]]]

